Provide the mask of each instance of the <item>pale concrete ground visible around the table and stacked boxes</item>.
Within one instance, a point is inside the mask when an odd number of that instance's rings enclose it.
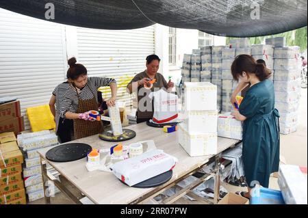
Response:
[[[298,111],[298,129],[295,133],[281,135],[281,158],[286,164],[307,167],[307,88],[302,89],[300,108]],[[246,191],[245,187],[236,187],[222,182],[224,188],[229,192]],[[270,177],[270,189],[279,190],[277,178]],[[29,202],[29,204],[44,204],[44,198]],[[66,195],[59,193],[51,197],[51,204],[73,204]],[[181,197],[174,204],[204,204],[202,200],[190,201]]]

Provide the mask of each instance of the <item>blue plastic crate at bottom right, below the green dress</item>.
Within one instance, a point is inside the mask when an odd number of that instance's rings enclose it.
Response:
[[[250,204],[285,204],[281,191],[255,188],[251,196]]]

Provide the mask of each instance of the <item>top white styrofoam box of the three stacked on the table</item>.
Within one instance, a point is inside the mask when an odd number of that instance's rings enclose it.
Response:
[[[184,99],[187,111],[215,111],[217,86],[211,83],[184,83]]]

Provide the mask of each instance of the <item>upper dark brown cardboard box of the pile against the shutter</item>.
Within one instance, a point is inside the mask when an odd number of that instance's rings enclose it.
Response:
[[[0,121],[9,120],[21,116],[21,103],[19,100],[0,105]]]

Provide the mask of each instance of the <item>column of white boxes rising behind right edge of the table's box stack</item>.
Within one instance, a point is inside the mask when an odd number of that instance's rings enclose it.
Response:
[[[220,112],[222,103],[222,49],[225,46],[211,48],[211,83],[217,85],[217,109]]]

